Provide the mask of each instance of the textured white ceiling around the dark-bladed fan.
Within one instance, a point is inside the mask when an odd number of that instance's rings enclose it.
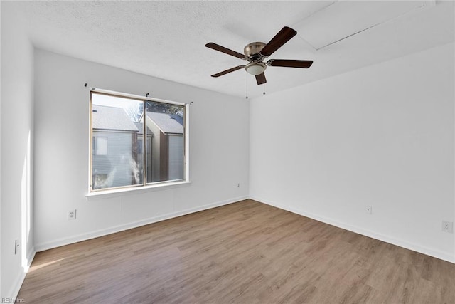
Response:
[[[210,77],[245,61],[205,48],[205,43],[243,53],[247,43],[267,43],[283,26],[314,19],[334,2],[18,1],[14,6],[25,16],[38,48],[236,96],[245,96],[248,81],[248,93],[255,97],[264,88],[245,70]],[[394,2],[386,3],[393,9]],[[365,5],[358,11],[355,5],[350,7],[346,18],[321,27],[321,35],[338,31],[343,23],[365,20]],[[267,68],[265,90],[284,90],[454,41],[453,1],[419,7],[423,9],[400,14],[319,51],[304,40],[304,28],[299,28],[297,36],[270,58],[311,59],[314,64],[309,69]]]

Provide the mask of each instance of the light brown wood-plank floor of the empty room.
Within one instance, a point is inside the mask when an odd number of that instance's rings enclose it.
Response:
[[[455,264],[246,200],[36,254],[26,303],[455,303]]]

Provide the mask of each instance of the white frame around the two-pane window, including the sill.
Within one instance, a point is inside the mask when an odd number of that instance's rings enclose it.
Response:
[[[144,101],[151,101],[156,103],[167,103],[171,105],[179,105],[185,108],[185,115],[183,117],[183,135],[184,135],[184,150],[183,150],[183,179],[178,181],[164,181],[164,182],[154,182],[151,184],[147,184],[146,180],[144,180],[144,184],[141,185],[131,185],[127,187],[118,187],[118,188],[108,188],[108,189],[95,189],[92,190],[91,183],[92,183],[92,93],[102,93],[107,95],[113,95],[120,98],[132,98],[136,100],[144,100]],[[121,93],[112,90],[104,90],[99,88],[90,88],[90,119],[89,119],[89,177],[88,177],[88,191],[85,195],[87,199],[92,198],[105,198],[109,196],[118,196],[128,193],[137,192],[149,192],[149,191],[156,191],[161,189],[169,189],[174,187],[181,187],[190,184],[190,165],[189,165],[189,138],[190,138],[190,104],[189,103],[179,103],[176,101],[171,100],[163,100],[159,98],[150,98],[148,96],[141,96],[141,95],[134,95],[129,93]],[[146,125],[146,124],[144,124]],[[145,142],[145,141],[143,141]],[[143,147],[145,148],[145,147]],[[145,150],[143,150],[145,152]]]

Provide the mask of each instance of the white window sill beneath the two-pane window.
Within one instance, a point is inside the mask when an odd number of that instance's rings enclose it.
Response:
[[[139,194],[144,192],[152,192],[159,190],[167,190],[178,187],[189,186],[191,182],[188,181],[179,181],[179,182],[168,182],[166,184],[153,184],[143,187],[134,187],[134,188],[122,188],[122,189],[112,189],[98,192],[90,192],[85,194],[87,201],[94,199],[108,199],[109,197],[118,197],[129,194]]]

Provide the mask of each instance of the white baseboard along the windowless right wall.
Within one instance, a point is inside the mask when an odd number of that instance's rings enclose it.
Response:
[[[419,253],[424,253],[427,256],[433,256],[434,258],[440,258],[441,260],[455,263],[455,256],[452,256],[451,254],[443,252],[443,251],[438,251],[438,250],[434,250],[432,248],[428,248],[425,246],[420,246],[415,243],[410,243],[410,242],[402,240],[402,239],[396,239],[393,236],[378,234],[375,231],[370,231],[368,229],[363,229],[362,227],[359,227],[359,226],[353,226],[350,224],[343,223],[341,221],[336,221],[335,219],[330,219],[325,216],[319,216],[318,214],[311,214],[311,213],[306,212],[301,209],[296,209],[296,208],[293,208],[290,206],[286,206],[284,204],[279,204],[275,201],[269,201],[267,199],[261,199],[259,197],[254,197],[254,196],[250,196],[250,199],[259,201],[259,202],[261,202],[263,204],[267,204],[269,206],[274,206],[279,209],[290,211],[294,214],[306,216],[306,217],[309,217],[310,219],[315,219],[316,221],[321,221],[323,223],[330,224],[332,226],[337,226],[338,228],[341,228],[341,229],[353,231],[356,234],[362,234],[363,236],[368,236],[373,239],[385,241],[386,243],[391,243],[392,245],[400,246],[402,248],[410,249],[412,251],[417,251]]]

